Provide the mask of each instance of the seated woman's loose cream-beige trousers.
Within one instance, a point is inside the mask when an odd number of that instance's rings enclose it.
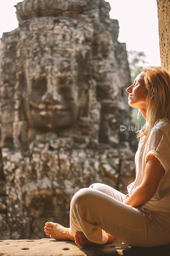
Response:
[[[70,204],[69,233],[81,231],[97,244],[105,244],[109,233],[132,246],[152,247],[170,243],[170,214],[141,211],[123,204],[126,195],[105,184],[80,189]]]

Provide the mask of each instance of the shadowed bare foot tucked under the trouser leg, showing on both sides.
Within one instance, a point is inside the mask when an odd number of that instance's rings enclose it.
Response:
[[[111,244],[114,240],[114,237],[108,233],[106,233],[108,236],[108,240],[106,244]],[[92,243],[90,240],[87,239],[87,237],[83,234],[83,232],[77,231],[76,235],[74,236],[75,243],[78,244],[78,246],[86,247],[86,246],[92,246],[96,245],[95,243]]]

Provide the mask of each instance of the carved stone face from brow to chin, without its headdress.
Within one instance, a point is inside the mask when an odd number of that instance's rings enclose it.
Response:
[[[68,62],[64,63],[69,65]],[[60,63],[58,68],[63,68]],[[30,74],[26,70],[26,90],[23,90],[23,105],[26,119],[34,127],[59,128],[73,124],[80,114],[83,103],[78,99],[79,88],[72,79],[64,74],[57,75],[52,68],[52,75],[45,72],[33,72],[34,65],[29,64]]]

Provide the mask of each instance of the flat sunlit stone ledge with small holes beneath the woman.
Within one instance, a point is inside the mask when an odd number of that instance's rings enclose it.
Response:
[[[0,256],[162,256],[169,255],[170,245],[152,248],[132,247],[116,240],[112,244],[78,247],[74,242],[54,239],[3,240],[0,241]]]

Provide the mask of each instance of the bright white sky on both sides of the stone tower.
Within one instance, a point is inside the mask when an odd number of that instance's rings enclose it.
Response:
[[[18,27],[16,8],[22,0],[0,0],[0,38],[3,32]],[[127,50],[146,54],[147,66],[160,66],[158,14],[156,0],[107,0],[111,6],[110,18],[119,21],[119,37]]]

